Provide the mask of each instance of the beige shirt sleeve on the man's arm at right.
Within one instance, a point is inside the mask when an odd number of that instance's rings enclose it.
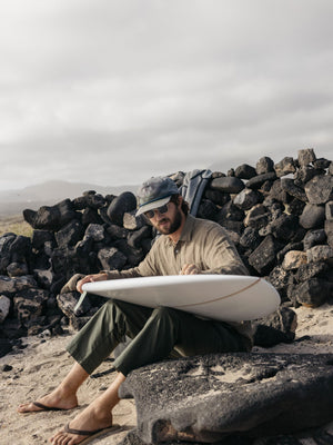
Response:
[[[204,246],[205,269],[201,274],[250,275],[223,227],[209,229]]]

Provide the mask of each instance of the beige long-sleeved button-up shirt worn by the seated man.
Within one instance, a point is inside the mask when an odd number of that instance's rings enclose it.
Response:
[[[194,264],[201,274],[249,275],[226,230],[208,219],[186,216],[179,241],[161,235],[147,257],[128,270],[108,270],[109,279],[179,275],[183,265]],[[249,322],[229,323],[252,344]]]

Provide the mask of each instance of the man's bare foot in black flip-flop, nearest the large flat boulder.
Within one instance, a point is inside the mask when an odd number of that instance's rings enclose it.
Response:
[[[102,411],[97,404],[89,405],[80,413],[68,427],[56,433],[50,442],[53,445],[62,445],[70,443],[71,445],[80,444],[87,439],[88,435],[74,434],[70,431],[77,429],[84,432],[97,432],[99,429],[112,426],[112,414],[110,411]]]

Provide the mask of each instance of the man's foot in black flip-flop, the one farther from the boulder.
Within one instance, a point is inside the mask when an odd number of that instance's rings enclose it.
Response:
[[[38,406],[38,405],[42,406]],[[78,398],[74,394],[64,395],[58,388],[52,393],[39,398],[36,403],[30,402],[21,404],[18,407],[18,413],[38,413],[48,409],[72,409],[78,406]]]

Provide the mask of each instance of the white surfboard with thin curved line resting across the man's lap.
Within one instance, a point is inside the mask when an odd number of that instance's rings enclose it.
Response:
[[[171,275],[87,283],[83,290],[155,308],[168,306],[223,322],[265,317],[280,296],[263,278],[243,275]]]

